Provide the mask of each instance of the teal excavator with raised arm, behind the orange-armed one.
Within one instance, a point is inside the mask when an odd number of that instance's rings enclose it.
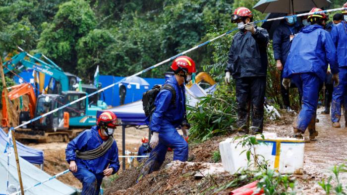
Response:
[[[45,94],[45,98],[50,97],[51,94],[58,94],[58,95],[66,96],[66,97],[63,97],[63,99],[67,101],[69,99],[73,99],[71,97],[81,96],[81,92],[75,91],[76,88],[78,87],[76,75],[73,75],[68,72],[63,72],[58,65],[56,65],[52,60],[50,60],[49,58],[47,58],[46,56],[42,54],[35,54],[34,56],[32,56],[26,53],[21,48],[19,49],[22,51],[21,53],[13,56],[10,60],[4,63],[5,67],[3,71],[5,74],[8,73],[9,71],[12,71],[16,67],[18,67],[18,69],[21,69],[23,67],[32,68],[38,72],[51,76],[47,90],[46,90],[47,94]],[[41,57],[45,58],[48,61],[48,63],[41,60],[40,59]],[[28,61],[26,58],[29,58],[30,61]],[[85,89],[82,87],[82,91],[88,91],[89,93],[91,93],[97,90],[97,88],[94,86],[89,86],[89,85],[87,86],[88,87],[87,88],[85,87]],[[84,92],[84,95],[86,94],[87,93]],[[52,98],[57,98],[57,97],[52,96]],[[69,110],[69,113],[70,113],[69,125],[71,127],[93,126],[95,124],[96,112],[98,110],[104,110],[107,108],[107,104],[105,102],[98,100],[97,97],[95,98],[93,96],[89,97],[87,102],[85,102],[85,104],[88,106],[83,108],[84,111],[82,112],[78,111],[77,114],[75,111]],[[60,104],[58,106],[62,106],[62,105]]]

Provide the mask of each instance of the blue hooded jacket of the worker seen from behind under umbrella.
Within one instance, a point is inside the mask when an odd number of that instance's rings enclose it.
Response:
[[[283,77],[312,72],[323,82],[328,63],[333,74],[339,72],[336,49],[329,32],[317,24],[305,26],[292,41]]]

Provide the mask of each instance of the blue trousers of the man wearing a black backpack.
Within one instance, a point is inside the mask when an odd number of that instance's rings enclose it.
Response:
[[[159,132],[159,144],[152,149],[149,159],[143,166],[138,181],[142,176],[158,171],[162,166],[168,147],[173,149],[173,160],[187,161],[188,143],[171,125],[163,126]]]

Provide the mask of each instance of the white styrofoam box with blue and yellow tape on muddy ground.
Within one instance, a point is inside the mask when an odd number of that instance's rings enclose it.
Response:
[[[265,139],[259,135],[257,139],[262,141],[255,146],[255,153],[261,155],[267,161],[268,167],[277,169],[281,174],[302,174],[304,140],[289,137],[277,137],[274,133],[264,133]],[[240,154],[247,148],[237,145],[237,140],[227,138],[219,143],[223,167],[230,174],[235,174],[242,169],[254,169],[254,159],[247,165],[246,152]],[[253,152],[253,151],[252,151]],[[259,157],[260,161],[262,158]]]

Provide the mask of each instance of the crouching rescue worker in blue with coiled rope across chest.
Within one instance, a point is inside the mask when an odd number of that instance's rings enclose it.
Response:
[[[84,130],[67,144],[66,161],[70,164],[72,174],[83,185],[82,195],[99,195],[104,176],[119,170],[118,148],[112,137],[118,125],[114,113],[103,112],[96,126]],[[93,152],[97,148],[101,150]],[[92,155],[86,154],[87,151]]]

